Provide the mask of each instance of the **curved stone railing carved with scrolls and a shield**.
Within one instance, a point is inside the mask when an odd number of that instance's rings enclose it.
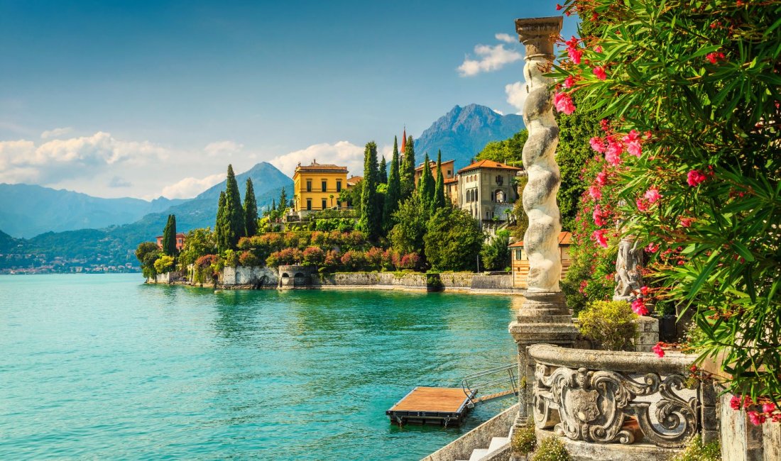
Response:
[[[715,405],[713,392],[689,379],[692,358],[683,354],[660,359],[548,344],[529,354],[535,424],[571,440],[679,448],[702,431],[703,410]]]

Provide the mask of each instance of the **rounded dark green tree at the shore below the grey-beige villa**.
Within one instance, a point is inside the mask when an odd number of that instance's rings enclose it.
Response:
[[[463,271],[475,267],[483,246],[480,222],[464,210],[445,207],[426,225],[426,259],[440,271]]]

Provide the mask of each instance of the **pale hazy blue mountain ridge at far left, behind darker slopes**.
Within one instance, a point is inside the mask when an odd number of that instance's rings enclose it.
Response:
[[[37,236],[41,232],[102,228],[134,222],[185,200],[165,197],[99,198],[70,190],[28,184],[0,183],[0,229],[11,236]]]

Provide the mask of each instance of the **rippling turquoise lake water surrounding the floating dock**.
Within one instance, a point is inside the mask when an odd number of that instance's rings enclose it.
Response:
[[[0,459],[419,459],[513,399],[460,428],[385,410],[512,363],[512,303],[0,276]]]

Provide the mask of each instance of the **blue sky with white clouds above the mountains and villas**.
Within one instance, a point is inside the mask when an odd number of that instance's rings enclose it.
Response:
[[[522,107],[549,1],[0,0],[0,183],[187,198],[269,161],[390,154],[455,105]],[[565,18],[562,35],[576,33]]]

